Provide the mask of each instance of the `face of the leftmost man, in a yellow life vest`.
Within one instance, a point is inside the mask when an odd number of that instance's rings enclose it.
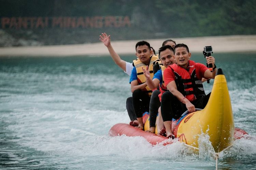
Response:
[[[139,60],[144,63],[145,65],[150,64],[150,49],[147,45],[138,46],[136,48],[136,56],[139,58]]]

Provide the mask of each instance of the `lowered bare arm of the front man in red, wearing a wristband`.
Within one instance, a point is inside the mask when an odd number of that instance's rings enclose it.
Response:
[[[177,90],[175,81],[171,81],[166,85],[166,87],[180,102],[186,105],[189,113],[196,111],[195,106]]]

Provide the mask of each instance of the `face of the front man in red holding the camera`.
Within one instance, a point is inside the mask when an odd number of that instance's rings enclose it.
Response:
[[[188,60],[191,57],[191,53],[189,53],[185,47],[177,47],[175,48],[174,57],[177,65],[186,69],[188,66]]]

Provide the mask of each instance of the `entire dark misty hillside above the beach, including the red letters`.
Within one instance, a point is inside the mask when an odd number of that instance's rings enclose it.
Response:
[[[256,34],[255,0],[0,0],[0,46]]]

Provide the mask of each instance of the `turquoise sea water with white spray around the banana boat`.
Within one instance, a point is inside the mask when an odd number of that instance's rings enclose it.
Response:
[[[235,126],[249,134],[220,155],[218,169],[256,169],[256,54],[214,56]],[[108,136],[129,122],[130,96],[128,75],[109,56],[0,58],[0,169],[215,169],[209,143],[196,154],[180,142]]]

